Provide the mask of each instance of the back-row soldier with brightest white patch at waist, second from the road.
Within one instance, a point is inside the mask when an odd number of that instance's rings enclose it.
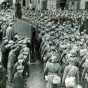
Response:
[[[66,88],[75,88],[79,83],[79,68],[75,66],[73,57],[69,58],[69,64],[64,69],[62,83],[65,83]]]

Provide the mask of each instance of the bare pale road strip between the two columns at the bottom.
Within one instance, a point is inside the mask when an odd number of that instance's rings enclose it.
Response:
[[[30,66],[30,77],[27,80],[27,88],[46,88],[42,64],[37,63]]]

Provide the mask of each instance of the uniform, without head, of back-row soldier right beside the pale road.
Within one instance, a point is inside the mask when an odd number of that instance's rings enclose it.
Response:
[[[48,77],[47,88],[52,88],[53,86],[55,88],[60,87],[61,66],[59,63],[47,62],[44,68],[44,74]],[[56,75],[59,77],[59,82],[54,85],[53,80]]]

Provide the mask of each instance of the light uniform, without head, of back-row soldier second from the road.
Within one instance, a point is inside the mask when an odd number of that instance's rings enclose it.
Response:
[[[73,80],[74,84],[67,84],[67,80],[71,82]],[[76,83],[79,83],[79,69],[74,65],[68,65],[65,67],[62,82],[65,83],[66,88],[74,87]]]

